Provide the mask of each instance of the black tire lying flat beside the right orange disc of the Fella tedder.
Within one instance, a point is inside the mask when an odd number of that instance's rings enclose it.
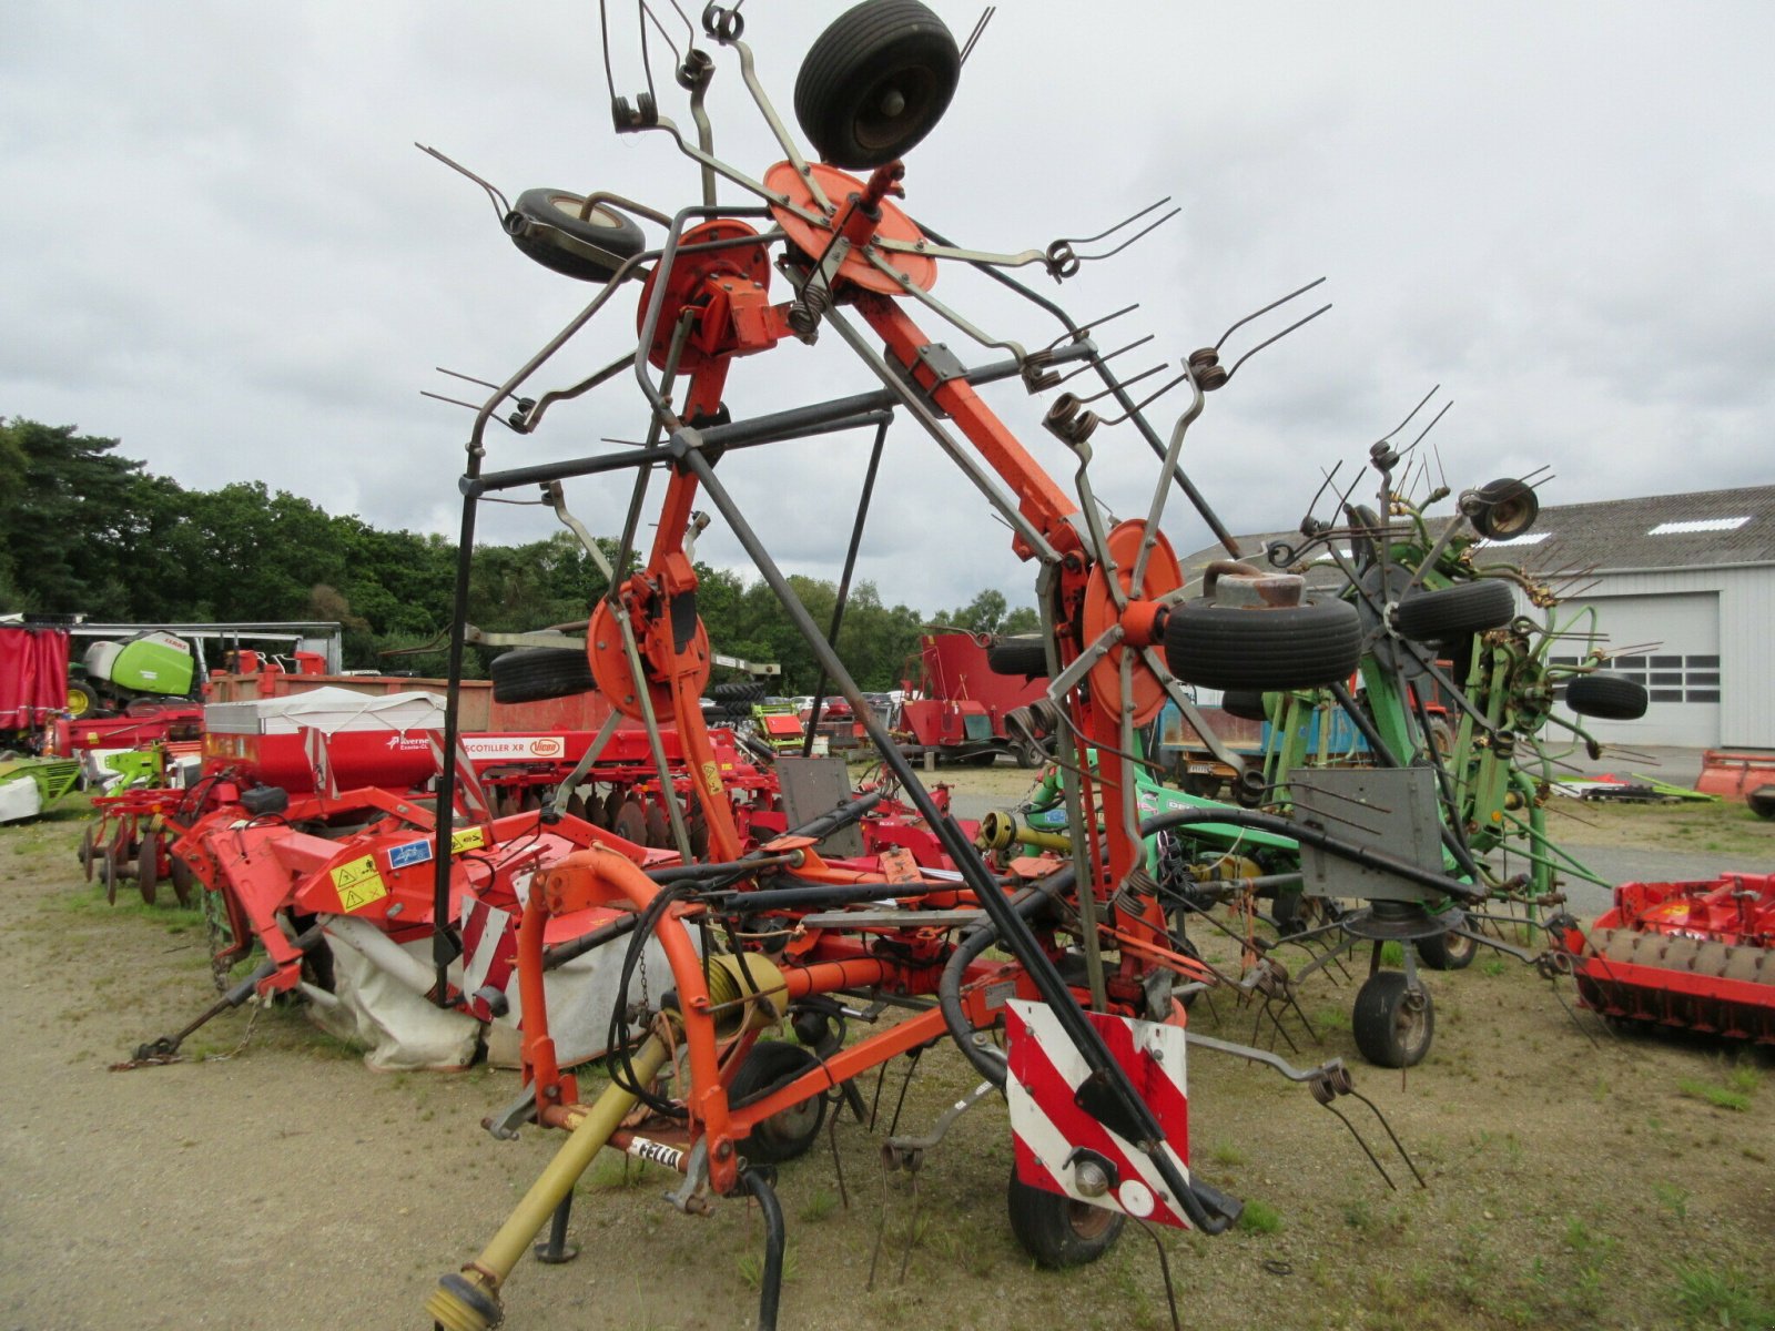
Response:
[[[1172,610],[1164,658],[1179,680],[1203,689],[1315,689],[1354,673],[1361,619],[1345,602],[1248,610],[1193,600]]]

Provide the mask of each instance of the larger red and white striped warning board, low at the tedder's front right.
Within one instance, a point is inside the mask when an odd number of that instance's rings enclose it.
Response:
[[[1177,1171],[1189,1178],[1189,1093],[1184,1081],[1182,1026],[1088,1012],[1115,1061],[1164,1130]],[[1017,1177],[1031,1187],[1061,1193],[1140,1219],[1189,1228],[1152,1159],[1079,1107],[1079,1086],[1090,1077],[1085,1056],[1067,1038],[1045,1003],[1012,999],[1006,1013],[1010,1130]]]

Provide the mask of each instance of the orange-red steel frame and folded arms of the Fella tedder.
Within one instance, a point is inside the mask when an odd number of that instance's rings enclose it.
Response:
[[[873,192],[872,188],[866,190]],[[857,206],[852,195],[847,208],[832,224],[832,236],[845,234],[852,247],[861,247],[872,232],[866,209]],[[813,257],[818,266],[820,257]],[[659,280],[659,279],[655,279]],[[772,346],[786,327],[783,311],[774,307],[776,318],[730,318],[726,298],[714,287],[714,273],[703,282],[705,318],[724,318],[726,341],[717,343],[708,327],[699,330],[699,355],[689,374],[685,403],[689,413],[712,412],[719,405],[721,389],[726,380],[730,358],[747,355]],[[845,286],[845,273],[834,273],[834,286]],[[889,353],[909,371],[909,374],[930,394],[930,399],[950,415],[957,429],[971,442],[980,458],[1012,488],[1019,511],[1031,527],[1060,555],[1056,619],[1061,625],[1060,646],[1061,666],[1076,660],[1083,642],[1074,641],[1070,625],[1092,596],[1104,603],[1095,605],[1099,621],[1120,623],[1124,642],[1111,655],[1120,662],[1122,651],[1136,651],[1159,641],[1163,630],[1163,612],[1140,595],[1125,595],[1125,607],[1118,609],[1109,602],[1109,593],[1102,587],[1102,579],[1093,586],[1092,561],[1076,525],[1079,508],[1040,467],[1030,451],[1017,440],[1014,431],[985,405],[980,394],[964,380],[950,378],[937,382],[937,376],[923,366],[919,348],[930,339],[919,330],[912,318],[896,300],[872,291],[847,286],[845,296],[854,303],[863,319],[886,341]],[[683,307],[692,305],[696,293],[685,296]],[[662,312],[660,327],[669,327],[671,318]],[[643,348],[643,355],[648,348]],[[676,726],[685,756],[692,772],[692,788],[698,806],[710,831],[710,855],[717,861],[731,861],[740,855],[740,834],[735,827],[724,790],[719,781],[714,751],[703,722],[699,694],[708,681],[710,664],[706,660],[706,639],[699,632],[689,641],[676,641],[671,603],[680,596],[694,596],[698,577],[683,548],[685,531],[690,522],[690,509],[696,502],[698,481],[685,467],[674,467],[660,508],[659,525],[646,566],[627,579],[618,589],[623,609],[635,625],[637,646],[648,667],[650,696],[660,713],[669,713]],[[1015,538],[1014,548],[1022,559],[1033,557],[1033,550],[1022,538]],[[1175,559],[1170,550],[1154,550],[1148,563],[1168,559],[1166,586],[1180,582]],[[1122,589],[1127,593],[1125,573]],[[1108,616],[1108,619],[1104,619]],[[588,651],[593,657],[595,673],[621,667],[627,674],[627,660],[621,658],[619,644],[605,639],[598,641],[598,625],[607,619],[595,619]],[[600,660],[602,657],[602,660]],[[1148,673],[1136,655],[1132,667]],[[1083,690],[1081,690],[1083,692]],[[612,697],[612,703],[628,715],[641,715],[639,701]],[[1099,701],[1090,696],[1076,696],[1070,703],[1072,722],[1079,731],[1079,749],[1095,747],[1095,774],[1085,770],[1083,793],[1088,811],[1102,807],[1100,818],[1086,813],[1085,836],[1088,839],[1088,862],[1099,866],[1095,882],[1088,889],[1099,900],[1109,894],[1141,862],[1140,843],[1127,834],[1122,818],[1116,816],[1120,793],[1125,781],[1132,777],[1129,761],[1120,754],[1120,699]],[[1085,763],[1079,765],[1086,768]],[[802,848],[804,862],[797,868],[797,877],[813,882],[852,882],[857,873],[827,866],[811,848]],[[863,875],[880,880],[884,875]],[[568,855],[547,875],[540,891],[532,891],[524,910],[518,932],[518,974],[525,1012],[524,1065],[525,1077],[536,1086],[538,1118],[545,1123],[566,1125],[577,1104],[577,1084],[570,1074],[563,1074],[556,1063],[554,1042],[547,1026],[547,1004],[543,996],[543,928],[548,916],[577,910],[591,905],[611,905],[627,902],[641,910],[655,900],[660,887],[648,878],[634,862],[612,850],[584,850]],[[744,1058],[753,1035],[738,1036],[738,1044],[717,1038],[715,1017],[710,1012],[708,985],[703,962],[685,932],[701,910],[698,905],[673,903],[666,907],[660,926],[655,932],[671,964],[678,988],[680,1015],[683,1024],[685,1061],[689,1067],[689,1093],[685,1100],[687,1125],[682,1129],[690,1138],[706,1136],[710,1141],[708,1170],[710,1184],[717,1193],[730,1193],[737,1185],[738,1155],[735,1141],[744,1139],[754,1125],[772,1114],[801,1104],[813,1095],[825,1091],[838,1083],[848,1081],[872,1067],[891,1059],[916,1045],[927,1044],[946,1033],[943,1015],[935,1008],[912,1015],[896,1026],[861,1040],[824,1059],[802,1077],[781,1090],[735,1109],[728,1104],[726,1083],[731,1081],[733,1068]],[[1156,898],[1148,898],[1140,916],[1124,910],[1124,928],[1113,932],[1120,944],[1120,965],[1111,978],[1111,999],[1131,1003],[1138,994],[1143,969],[1157,964],[1180,971],[1189,978],[1202,978],[1200,967],[1189,958],[1175,953],[1170,946],[1170,933],[1163,907]],[[1138,932],[1136,932],[1138,930]],[[777,960],[786,985],[786,997],[806,997],[811,994],[856,988],[886,988],[898,994],[932,994],[943,969],[943,957],[934,953],[927,965],[902,964],[879,957],[870,957],[863,944],[836,935],[818,932],[804,944],[795,964]],[[1033,996],[1033,985],[1015,964],[974,962],[966,973],[964,1008],[976,1028],[989,1026],[996,1019],[996,1008],[987,1006],[987,985],[1015,983],[1021,996]],[[998,992],[998,990],[996,990]],[[724,1047],[726,1044],[726,1047]],[[738,1054],[738,1056],[731,1056]]]

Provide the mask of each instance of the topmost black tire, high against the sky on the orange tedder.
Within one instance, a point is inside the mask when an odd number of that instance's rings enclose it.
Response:
[[[795,76],[795,119],[825,161],[872,170],[937,128],[962,53],[919,0],[864,0],[834,18]],[[884,114],[889,99],[900,110]]]

